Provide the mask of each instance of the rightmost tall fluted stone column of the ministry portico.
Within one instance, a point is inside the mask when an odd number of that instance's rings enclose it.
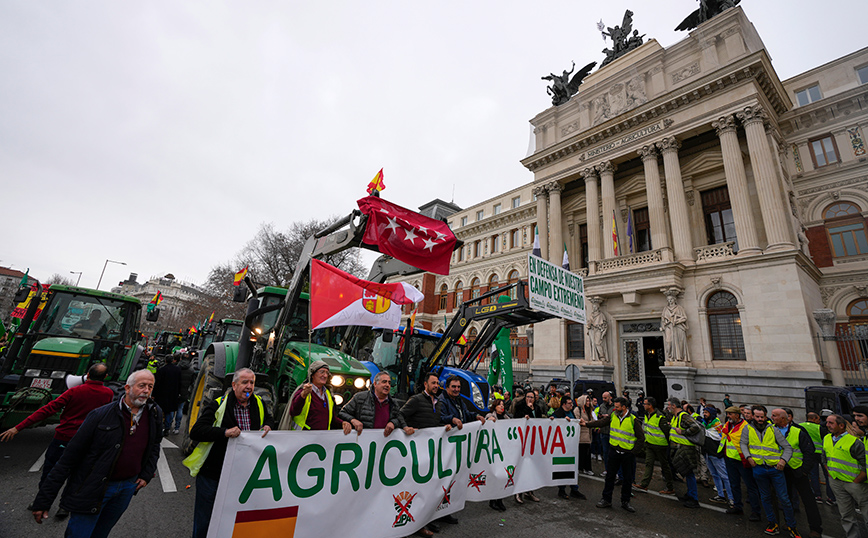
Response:
[[[745,107],[736,116],[744,124],[744,131],[747,134],[747,149],[750,153],[763,225],[769,243],[766,251],[794,249],[796,247],[787,232],[787,227],[790,225],[789,211],[784,210],[783,207],[781,190],[775,175],[774,158],[763,126],[767,118],[766,113],[761,106],[755,105]]]

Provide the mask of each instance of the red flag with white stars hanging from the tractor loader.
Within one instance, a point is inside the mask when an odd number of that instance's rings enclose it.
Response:
[[[358,204],[368,216],[364,243],[423,271],[449,274],[456,239],[445,222],[374,196],[362,198]]]

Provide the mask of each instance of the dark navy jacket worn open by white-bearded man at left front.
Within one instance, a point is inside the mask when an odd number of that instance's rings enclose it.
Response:
[[[109,477],[124,440],[129,437],[130,425],[119,402],[113,400],[87,415],[81,428],[66,445],[63,456],[39,488],[33,501],[34,512],[50,509],[60,487],[67,482],[60,498],[61,508],[81,514],[99,513]],[[150,399],[145,407],[148,411],[148,443],[142,455],[142,471],[138,478],[150,482],[160,458],[163,412]]]

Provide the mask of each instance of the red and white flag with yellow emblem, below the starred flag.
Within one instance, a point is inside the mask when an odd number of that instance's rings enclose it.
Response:
[[[423,298],[422,292],[404,282],[370,282],[311,260],[310,325],[314,329],[339,325],[397,329],[401,305]]]

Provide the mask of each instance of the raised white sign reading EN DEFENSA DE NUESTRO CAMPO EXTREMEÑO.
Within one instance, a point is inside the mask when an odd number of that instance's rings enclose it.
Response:
[[[581,275],[528,254],[530,306],[555,316],[585,323],[585,285]]]

